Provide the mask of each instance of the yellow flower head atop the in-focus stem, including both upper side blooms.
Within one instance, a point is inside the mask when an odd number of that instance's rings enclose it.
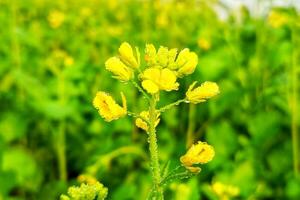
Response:
[[[106,69],[114,78],[123,82],[141,82],[141,88],[150,95],[157,95],[160,91],[178,90],[178,78],[192,74],[198,64],[198,56],[185,48],[178,53],[178,50],[168,49],[161,46],[158,50],[152,44],[145,48],[146,67],[141,68],[140,52],[136,47],[133,49],[130,44],[124,42],[119,47],[119,55],[109,58],[105,62]],[[136,75],[137,74],[137,75]],[[137,83],[136,83],[137,84]],[[219,87],[216,83],[205,82],[196,87],[194,82],[186,92],[185,100],[190,103],[201,103],[219,94]],[[105,92],[98,92],[94,98],[93,105],[98,109],[99,114],[106,120],[112,121],[127,114],[126,99],[121,94],[123,107]],[[147,131],[148,126],[143,118],[149,119],[147,111],[140,113],[136,125]],[[159,123],[159,114],[157,124]],[[156,124],[156,125],[157,125]]]

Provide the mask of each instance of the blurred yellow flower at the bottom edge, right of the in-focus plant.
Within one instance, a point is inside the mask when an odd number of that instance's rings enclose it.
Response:
[[[211,187],[221,200],[229,200],[232,197],[236,197],[240,194],[240,189],[238,187],[223,184],[218,181],[214,182]]]

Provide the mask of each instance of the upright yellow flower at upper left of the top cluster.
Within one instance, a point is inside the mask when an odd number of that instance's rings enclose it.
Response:
[[[127,42],[123,42],[119,47],[120,59],[126,64],[128,67],[133,69],[139,68],[139,57],[140,53],[138,48],[136,48],[136,56],[133,54],[132,47]]]

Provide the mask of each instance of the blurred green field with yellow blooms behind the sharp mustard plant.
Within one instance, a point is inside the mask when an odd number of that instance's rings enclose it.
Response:
[[[80,174],[108,187],[108,199],[146,198],[146,134],[130,118],[105,122],[92,106],[104,90],[124,91],[132,110],[145,107],[105,71],[123,41],[142,54],[146,43],[198,54],[195,73],[161,105],[193,80],[221,89],[162,115],[162,164],[177,165],[197,140],[216,151],[166,199],[300,199],[300,17],[291,3],[0,0],[0,199],[58,199]]]

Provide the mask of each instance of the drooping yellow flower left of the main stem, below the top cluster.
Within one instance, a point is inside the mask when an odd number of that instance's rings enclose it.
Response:
[[[93,105],[99,111],[101,117],[103,117],[105,121],[110,122],[127,114],[126,98],[122,92],[121,97],[123,107],[118,105],[109,94],[100,91],[97,92],[93,100]]]

